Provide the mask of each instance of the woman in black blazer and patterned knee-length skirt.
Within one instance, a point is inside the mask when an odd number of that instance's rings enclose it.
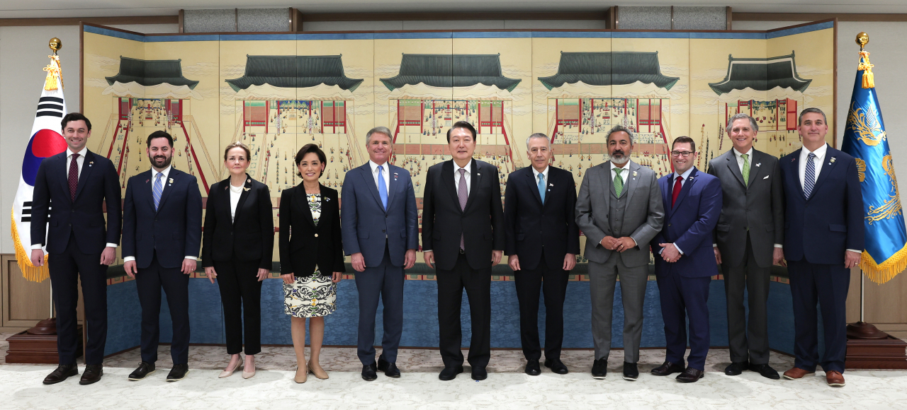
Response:
[[[336,310],[336,282],[346,271],[340,237],[340,206],[336,189],[318,183],[325,153],[307,144],[296,154],[302,184],[280,195],[280,272],[284,280],[284,311],[296,349],[294,380],[305,383],[308,372],[327,378],[318,364],[325,336],[325,316]],[[311,358],[306,363],[306,318]]]

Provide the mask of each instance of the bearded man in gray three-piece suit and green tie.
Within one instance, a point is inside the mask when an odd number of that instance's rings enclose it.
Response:
[[[576,201],[576,223],[586,235],[586,258],[592,296],[592,377],[608,372],[611,348],[611,307],[620,276],[624,307],[623,377],[636,380],[642,304],[649,281],[649,241],[661,231],[665,209],[658,177],[648,167],[630,161],[633,135],[615,126],[608,132],[611,160],[590,167],[582,178]]]

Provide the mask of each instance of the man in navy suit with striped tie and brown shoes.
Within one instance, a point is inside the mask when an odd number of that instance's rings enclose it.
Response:
[[[785,259],[794,299],[794,367],[798,380],[822,365],[829,386],[844,386],[850,270],[863,253],[863,193],[856,161],[825,143],[822,110],[800,113],[803,148],[781,158],[785,187]],[[819,361],[816,302],[822,307],[824,358]]]

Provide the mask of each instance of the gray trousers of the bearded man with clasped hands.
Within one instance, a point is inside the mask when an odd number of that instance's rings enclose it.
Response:
[[[589,262],[592,296],[592,341],[595,359],[608,358],[611,350],[611,313],[614,286],[620,277],[620,297],[624,308],[624,361],[639,361],[639,339],[642,338],[642,303],[646,297],[649,266],[628,267],[620,255],[612,253],[604,263]]]

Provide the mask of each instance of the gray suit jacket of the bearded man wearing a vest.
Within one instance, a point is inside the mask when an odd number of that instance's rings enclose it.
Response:
[[[586,235],[585,257],[592,262],[607,262],[611,253],[615,253],[601,246],[602,238],[629,236],[638,245],[622,253],[624,264],[630,267],[648,264],[649,241],[664,224],[665,208],[655,171],[632,160],[628,167],[629,175],[620,195],[627,200],[620,232],[613,232],[609,222],[612,198],[610,161],[590,167],[586,176],[582,177],[580,194],[576,198],[576,224]]]

